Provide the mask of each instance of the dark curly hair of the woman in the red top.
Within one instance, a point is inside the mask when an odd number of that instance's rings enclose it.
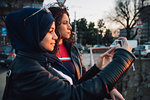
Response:
[[[58,43],[59,39],[61,38],[60,37],[60,33],[58,32],[58,27],[61,24],[61,20],[62,20],[63,14],[67,14],[68,17],[69,17],[69,13],[67,11],[68,9],[66,7],[63,7],[63,8],[60,8],[60,7],[50,7],[49,10],[51,11],[53,17],[55,18],[55,26],[56,26],[55,32],[56,32],[56,34],[58,36],[58,40],[57,40],[57,43]],[[69,43],[74,44],[74,38],[73,38],[73,36],[74,36],[74,34],[71,33],[70,38],[69,39],[64,39],[64,41],[67,41]]]

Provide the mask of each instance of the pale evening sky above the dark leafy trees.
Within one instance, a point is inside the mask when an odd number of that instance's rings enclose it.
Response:
[[[45,0],[45,2],[56,2],[56,0]],[[60,0],[62,1],[62,0]],[[114,9],[115,0],[66,0],[65,6],[69,8],[71,22],[75,19],[86,18],[88,23],[104,19]],[[114,24],[105,21],[107,28],[114,27]]]

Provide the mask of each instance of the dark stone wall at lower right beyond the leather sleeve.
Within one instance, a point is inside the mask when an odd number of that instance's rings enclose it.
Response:
[[[150,58],[137,59],[134,66],[116,87],[126,100],[150,100]]]

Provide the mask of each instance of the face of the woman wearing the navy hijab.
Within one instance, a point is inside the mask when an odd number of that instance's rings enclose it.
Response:
[[[48,51],[53,51],[56,43],[55,40],[57,39],[58,37],[55,33],[55,22],[53,22],[49,32],[47,32],[44,39],[40,42],[40,45]]]

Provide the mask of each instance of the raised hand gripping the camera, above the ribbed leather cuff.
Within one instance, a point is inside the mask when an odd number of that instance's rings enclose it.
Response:
[[[118,40],[123,40],[123,46],[117,47],[117,48],[123,48],[123,49],[129,51],[130,53],[132,53],[132,48],[129,46],[127,38],[119,37]]]

